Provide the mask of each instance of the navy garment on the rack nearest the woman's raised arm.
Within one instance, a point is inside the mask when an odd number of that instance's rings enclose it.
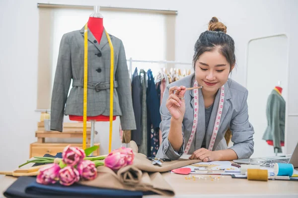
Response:
[[[155,88],[154,78],[151,69],[148,70],[147,88],[147,127],[148,127],[148,156],[155,157],[159,148],[159,124],[161,117],[159,113],[159,101]]]

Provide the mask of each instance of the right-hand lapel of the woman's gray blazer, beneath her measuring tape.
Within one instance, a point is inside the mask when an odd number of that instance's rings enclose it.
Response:
[[[219,89],[219,91],[218,91],[218,93],[215,97],[215,101],[214,101],[210,121],[209,121],[207,132],[206,132],[206,135],[205,135],[206,148],[207,149],[209,148],[211,136],[212,136],[212,133],[213,133],[213,129],[214,129],[217,113],[218,113],[219,102],[220,102],[220,94],[221,94],[221,89]],[[219,125],[218,133],[221,132],[221,125],[222,125],[222,123],[225,119],[225,115],[228,112],[228,109],[230,107],[230,103],[228,102],[228,100],[230,98],[231,98],[231,95],[230,95],[230,92],[229,92],[228,83],[225,83],[224,84],[224,108],[223,108],[223,112],[222,112],[222,117],[221,117],[221,122],[220,122],[220,125]],[[214,145],[213,149],[215,149],[216,145],[220,142],[220,139],[218,138],[218,136],[220,136],[220,134],[217,135],[217,138],[215,140],[215,145]]]

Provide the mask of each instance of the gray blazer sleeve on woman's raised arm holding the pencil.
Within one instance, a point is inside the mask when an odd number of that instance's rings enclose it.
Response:
[[[176,160],[176,159],[179,159],[184,152],[184,139],[179,151],[175,151],[168,140],[168,134],[170,131],[170,124],[171,124],[171,117],[172,117],[170,112],[165,106],[168,96],[169,96],[169,86],[167,86],[166,89],[164,90],[162,103],[160,106],[161,123],[159,125],[159,128],[162,132],[162,143],[157,151],[156,157]],[[183,132],[183,129],[184,127],[182,124],[181,132]]]

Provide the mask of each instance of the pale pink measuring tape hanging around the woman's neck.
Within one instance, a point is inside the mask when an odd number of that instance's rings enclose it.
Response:
[[[198,82],[197,80],[195,80],[194,82],[194,87],[198,86]],[[198,89],[194,89],[194,122],[193,122],[193,127],[192,127],[192,131],[190,133],[190,137],[188,139],[187,145],[185,147],[184,153],[188,154],[188,151],[190,149],[190,146],[193,142],[193,139],[195,137],[196,131],[197,131],[197,125],[198,125],[198,116],[199,116],[199,90]],[[221,118],[222,118],[222,112],[223,112],[223,108],[224,108],[224,85],[221,87],[221,95],[220,95],[220,102],[219,102],[219,108],[218,108],[218,112],[217,112],[217,116],[216,116],[216,121],[214,124],[214,128],[213,128],[213,133],[210,139],[210,143],[209,143],[209,147],[208,150],[212,151],[213,146],[214,146],[214,142],[217,136],[217,133],[219,131],[219,126],[220,126],[220,122],[221,122]],[[208,126],[206,126],[207,128]],[[204,137],[205,138],[205,137]]]

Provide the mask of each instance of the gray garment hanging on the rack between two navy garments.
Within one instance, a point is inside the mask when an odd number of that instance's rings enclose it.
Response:
[[[141,133],[142,141],[139,146],[139,153],[143,153],[146,156],[148,155],[148,131],[147,131],[147,73],[144,69],[140,70],[140,79],[141,79],[141,99],[142,99],[142,122],[141,122]]]

